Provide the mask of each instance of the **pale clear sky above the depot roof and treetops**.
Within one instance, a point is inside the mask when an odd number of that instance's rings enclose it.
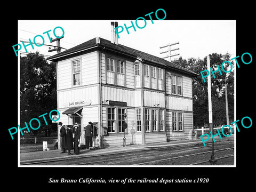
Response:
[[[49,31],[54,39],[53,30],[55,27],[61,27],[65,31],[64,38],[60,40],[61,47],[70,49],[76,45],[89,41],[95,37],[110,39],[110,22],[117,21],[118,26],[131,26],[131,20],[19,20],[18,39],[20,41],[33,41],[36,35],[44,37],[44,44],[56,45],[56,42],[50,43],[45,31]],[[159,49],[160,46],[177,43],[171,46],[171,49],[178,49],[172,54],[180,55],[172,57],[178,59],[201,58],[203,59],[212,53],[230,53],[231,57],[236,56],[236,21],[235,20],[146,20],[146,27],[139,29],[135,25],[136,31],[129,28],[127,34],[125,28],[119,33],[118,43],[132,47],[139,51],[153,54],[157,57],[165,57],[166,53],[160,54],[165,49]],[[138,26],[144,26],[143,20],[138,21]],[[119,29],[119,28],[118,28]],[[61,36],[60,28],[55,30],[56,35]],[[40,37],[36,38],[36,43],[42,43]],[[25,43],[27,45],[28,43]],[[52,47],[53,49],[53,47]],[[29,45],[28,52],[39,51],[40,54],[50,57],[57,54],[56,51],[48,52],[49,46],[35,46],[34,50]],[[26,52],[24,47],[20,50]],[[64,51],[62,49],[61,51]],[[15,54],[13,52],[13,54]],[[22,54],[21,56],[25,56]]]

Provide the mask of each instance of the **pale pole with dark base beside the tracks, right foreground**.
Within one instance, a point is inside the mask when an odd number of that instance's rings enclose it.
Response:
[[[210,57],[207,56],[207,70],[210,71]],[[209,128],[213,133],[213,114],[212,114],[212,90],[211,90],[211,76],[207,76],[207,86],[208,86],[208,106],[209,106]],[[217,160],[214,159],[214,142],[212,138],[212,155],[209,159],[211,165],[215,165]]]

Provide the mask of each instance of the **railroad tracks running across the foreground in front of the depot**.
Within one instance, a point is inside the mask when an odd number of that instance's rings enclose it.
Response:
[[[222,145],[226,145],[226,143],[231,143],[234,140],[225,140],[225,141],[217,141],[215,142],[215,148],[221,147]],[[217,146],[218,145],[218,146]],[[184,149],[185,146],[189,146],[189,149]],[[190,146],[194,146],[193,148],[190,148]],[[163,159],[156,159],[155,161],[148,161],[145,162],[143,161],[144,159],[147,159],[149,157],[153,158],[159,158],[164,155],[175,155],[175,154],[181,154],[181,153],[191,153],[191,149],[193,150],[198,150],[202,149],[204,150],[201,153],[196,153],[196,154],[204,154],[204,153],[210,153],[211,150],[211,143],[206,143],[205,147],[202,147],[202,145],[199,145],[198,143],[193,143],[193,144],[186,144],[186,145],[177,145],[177,146],[150,146],[145,149],[142,149],[140,151],[122,151],[120,153],[110,153],[110,154],[99,154],[99,155],[93,155],[93,156],[76,156],[76,157],[67,157],[67,158],[55,158],[55,159],[50,159],[46,161],[35,161],[35,162],[20,162],[20,165],[62,165],[67,164],[67,165],[109,165],[109,164],[120,164],[120,162],[126,160],[129,161],[129,165],[145,165],[148,163],[154,163],[154,162],[163,162],[167,161],[168,159],[174,159],[174,158],[182,158],[185,157],[184,155],[180,156],[172,156],[169,158],[163,158]],[[233,147],[234,149],[234,147]],[[205,151],[208,150],[208,151]],[[217,149],[218,150],[225,150],[225,149]],[[170,153],[171,152],[171,153]],[[137,155],[134,155],[136,153]],[[111,155],[118,155],[118,157],[111,157]],[[188,154],[188,156],[195,156],[195,154]],[[100,161],[95,161],[95,157],[101,158]],[[92,160],[94,158],[94,160]],[[81,162],[82,161],[82,162]],[[86,161],[86,162],[85,162]],[[136,161],[143,161],[142,163],[136,163]],[[135,163],[133,163],[135,162]]]

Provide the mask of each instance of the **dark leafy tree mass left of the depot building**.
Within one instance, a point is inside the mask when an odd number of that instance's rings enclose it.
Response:
[[[20,58],[20,123],[49,113],[57,108],[55,63],[47,63],[39,52]],[[38,118],[41,120],[41,118]],[[47,119],[46,119],[47,120]],[[38,127],[38,123],[33,127]],[[51,121],[47,122],[51,123]],[[33,125],[33,124],[32,124]],[[42,119],[41,127],[45,126]],[[34,134],[37,130],[33,131]]]

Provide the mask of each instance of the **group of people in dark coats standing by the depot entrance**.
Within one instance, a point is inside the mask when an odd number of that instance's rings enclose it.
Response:
[[[81,136],[81,129],[77,123],[74,126],[68,125],[67,129],[62,126],[62,123],[59,122],[58,126],[60,127],[60,148],[61,153],[66,153],[68,150],[68,155],[71,154],[71,150],[74,149],[74,154],[78,155],[79,150],[79,142]],[[73,137],[74,134],[74,137]],[[92,135],[93,135],[93,124],[89,122],[89,124],[85,127],[85,141],[86,141],[86,148],[92,147]],[[74,146],[73,146],[74,142]]]

